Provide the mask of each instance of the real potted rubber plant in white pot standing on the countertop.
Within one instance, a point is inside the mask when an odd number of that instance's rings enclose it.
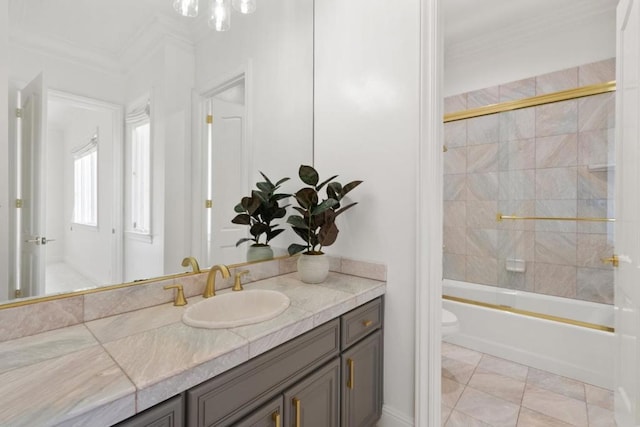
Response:
[[[292,243],[288,252],[289,255],[302,252],[298,258],[298,274],[303,282],[321,283],[329,274],[329,259],[324,256],[322,249],[335,243],[338,238],[336,218],[357,204],[352,202],[342,206],[341,201],[362,181],[342,185],[335,181],[338,175],[334,175],[320,182],[318,172],[307,165],[300,166],[298,176],[306,186],[293,195],[298,204],[293,209],[298,214],[290,215],[287,223],[304,244]],[[325,198],[320,194],[323,188],[326,191]]]

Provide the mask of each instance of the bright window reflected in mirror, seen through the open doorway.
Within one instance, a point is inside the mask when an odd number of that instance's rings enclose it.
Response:
[[[98,225],[98,137],[73,153],[73,222]]]

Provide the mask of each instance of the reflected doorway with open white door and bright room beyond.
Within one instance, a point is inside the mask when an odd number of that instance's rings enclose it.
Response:
[[[42,76],[19,91],[16,236],[10,297],[121,281],[114,151],[120,107],[47,90]]]

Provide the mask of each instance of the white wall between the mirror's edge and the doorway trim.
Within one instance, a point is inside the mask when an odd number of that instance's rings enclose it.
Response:
[[[316,2],[315,28],[315,165],[364,180],[325,252],[387,264],[385,415],[411,422],[420,1]]]

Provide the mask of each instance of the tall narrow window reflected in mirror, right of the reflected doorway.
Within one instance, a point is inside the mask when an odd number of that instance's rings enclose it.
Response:
[[[131,127],[131,230],[151,232],[151,125]]]

